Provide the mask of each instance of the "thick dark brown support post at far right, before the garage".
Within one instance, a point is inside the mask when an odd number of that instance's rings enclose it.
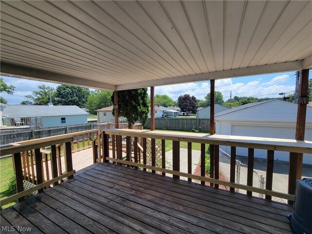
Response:
[[[302,70],[300,72],[299,82],[299,101],[297,111],[297,123],[296,123],[296,140],[304,140],[305,127],[306,127],[306,114],[307,114],[307,102],[304,98],[308,98],[309,87],[309,69]],[[296,181],[301,179],[302,176],[302,160],[303,154],[290,153],[289,156],[289,176],[288,176],[288,193],[294,195],[296,188]],[[289,204],[293,204],[289,201]]]

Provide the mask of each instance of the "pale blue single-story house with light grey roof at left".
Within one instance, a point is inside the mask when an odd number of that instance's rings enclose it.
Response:
[[[39,126],[53,127],[86,123],[88,113],[78,106],[7,105],[3,115],[9,117],[11,126],[15,125],[14,119],[29,125],[31,118],[40,117]]]

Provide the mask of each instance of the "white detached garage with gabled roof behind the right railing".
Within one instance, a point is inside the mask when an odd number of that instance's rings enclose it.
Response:
[[[298,105],[269,100],[248,103],[215,114],[215,133],[246,137],[294,139]],[[312,140],[312,107],[307,106],[305,140]],[[231,147],[221,147],[230,153]],[[236,148],[236,155],[248,156],[247,148]],[[267,158],[266,150],[255,150],[254,156]],[[274,159],[289,161],[289,153],[274,151]],[[303,163],[312,164],[312,155],[304,154]]]

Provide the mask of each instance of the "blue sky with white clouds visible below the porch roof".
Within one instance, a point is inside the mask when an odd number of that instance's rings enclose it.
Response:
[[[310,70],[309,77],[312,77]],[[27,100],[25,95],[32,94],[32,91],[38,89],[38,85],[45,84],[51,87],[57,87],[59,84],[41,82],[36,80],[1,77],[8,85],[14,85],[13,95],[2,93],[1,96],[8,101],[9,105],[20,104]],[[218,79],[215,81],[215,90],[223,94],[224,100],[234,96],[254,96],[257,98],[279,98],[279,93],[291,93],[295,90],[295,72],[274,73],[259,76]],[[204,99],[210,92],[210,82],[192,82],[185,84],[166,85],[155,87],[155,94],[166,94],[174,100],[183,94],[190,94],[197,99]]]

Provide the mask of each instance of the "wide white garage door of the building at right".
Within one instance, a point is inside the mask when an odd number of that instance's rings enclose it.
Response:
[[[246,136],[246,137],[273,137],[273,138],[286,138],[294,139],[294,127],[266,127],[266,126],[246,126],[246,125],[232,125],[233,136]],[[306,128],[305,139],[312,140],[312,129]],[[248,156],[248,149],[237,147],[236,154],[239,156]],[[258,158],[267,158],[266,150],[255,150],[254,156]],[[274,159],[281,161],[289,161],[289,152],[275,151]],[[304,154],[303,163],[312,164],[312,155]]]

